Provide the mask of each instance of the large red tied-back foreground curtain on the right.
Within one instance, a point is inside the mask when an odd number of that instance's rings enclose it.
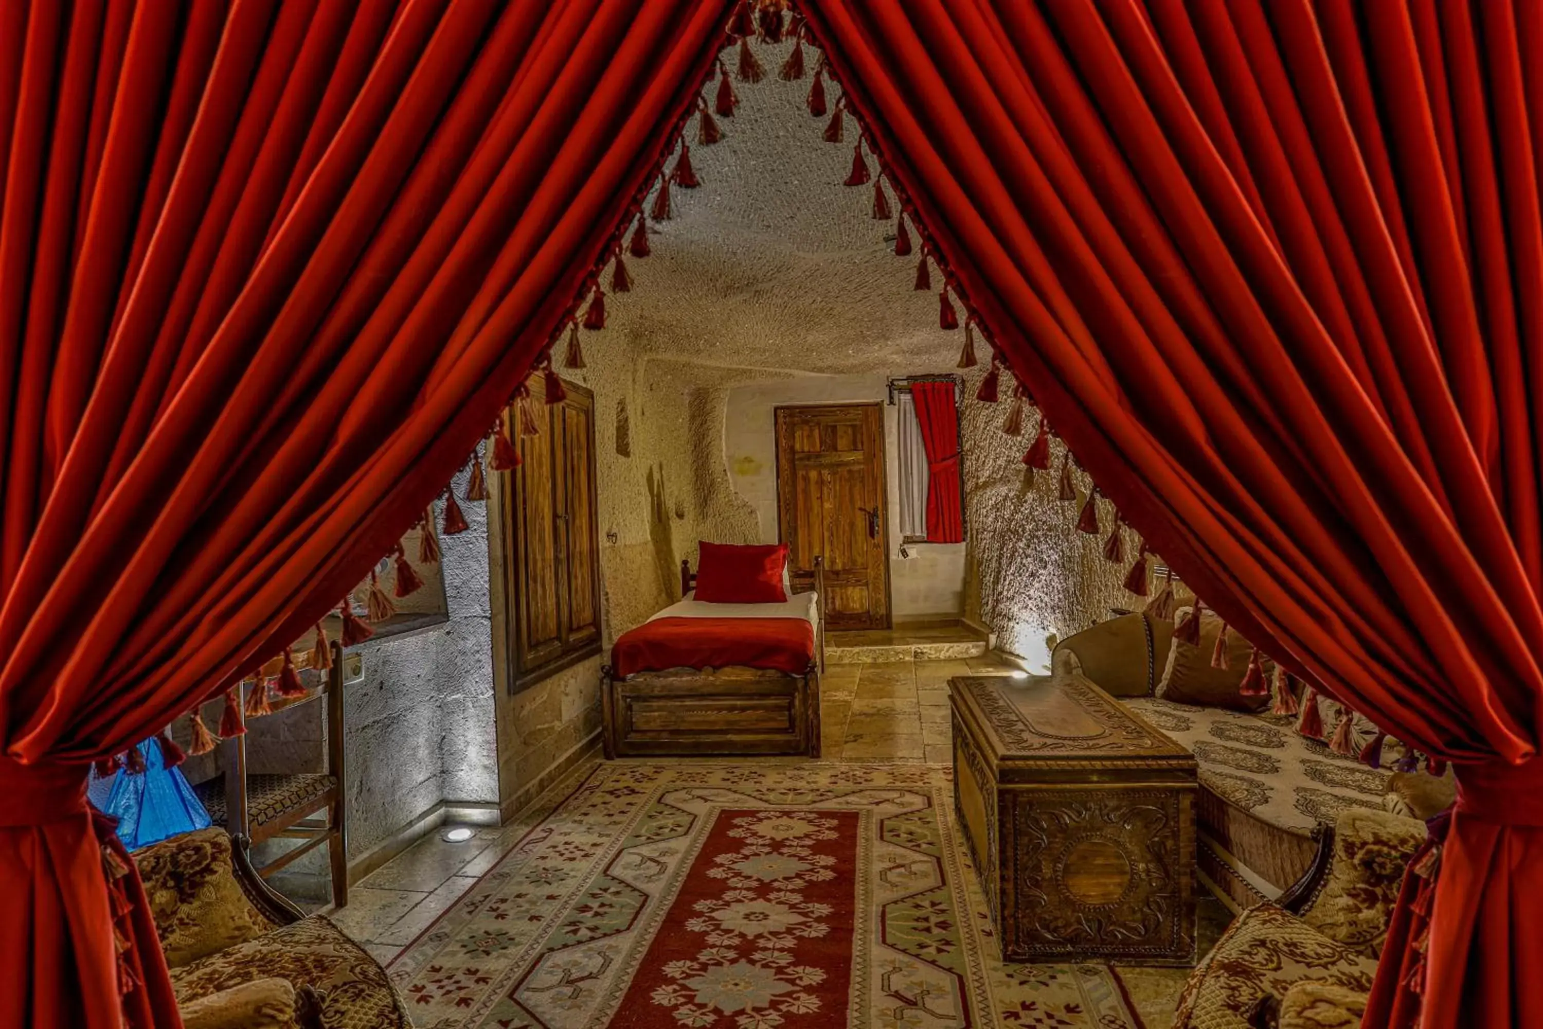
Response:
[[[1429,946],[1403,912],[1364,1024],[1543,1024],[1543,5],[805,11],[1129,523],[1268,654],[1458,762]]]

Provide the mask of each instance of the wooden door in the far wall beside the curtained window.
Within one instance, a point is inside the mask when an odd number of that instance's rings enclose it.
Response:
[[[889,628],[884,410],[878,404],[776,409],[778,523],[793,588],[813,588],[833,629]]]

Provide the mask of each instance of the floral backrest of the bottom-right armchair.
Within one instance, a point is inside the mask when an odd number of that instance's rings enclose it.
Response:
[[[1383,952],[1404,867],[1426,839],[1424,822],[1352,808],[1335,822],[1329,881],[1302,921],[1367,956]]]

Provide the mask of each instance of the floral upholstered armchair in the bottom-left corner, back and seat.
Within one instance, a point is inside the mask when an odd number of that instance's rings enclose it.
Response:
[[[268,889],[224,830],[134,853],[187,1029],[410,1029],[386,970]]]

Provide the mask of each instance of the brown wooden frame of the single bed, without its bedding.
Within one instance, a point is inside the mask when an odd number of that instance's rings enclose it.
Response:
[[[680,562],[680,595],[696,586]],[[670,668],[616,677],[600,670],[606,757],[819,756],[819,676],[826,668],[826,568],[815,558],[815,659],[802,674]]]

